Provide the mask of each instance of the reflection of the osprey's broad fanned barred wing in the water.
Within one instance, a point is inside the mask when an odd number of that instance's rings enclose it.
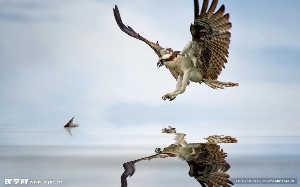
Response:
[[[189,175],[205,187],[224,186],[230,187],[233,183],[228,179],[229,175],[225,172],[230,165],[225,161],[227,153],[220,150],[220,146],[216,144],[202,144],[199,148],[195,148],[195,154],[184,158],[190,166]]]

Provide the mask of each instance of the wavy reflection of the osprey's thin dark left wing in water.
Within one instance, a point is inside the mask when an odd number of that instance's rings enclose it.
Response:
[[[123,167],[124,167],[125,171],[124,171],[124,173],[121,176],[122,187],[127,187],[127,180],[126,180],[126,178],[128,176],[131,177],[134,174],[134,172],[135,172],[135,166],[134,166],[134,164],[136,162],[139,162],[141,160],[151,160],[151,159],[154,159],[154,158],[166,158],[166,157],[167,156],[161,156],[159,154],[155,154],[155,155],[148,156],[148,157],[145,157],[145,158],[142,158],[142,159],[138,159],[138,160],[134,160],[134,161],[130,161],[130,162],[124,163]]]

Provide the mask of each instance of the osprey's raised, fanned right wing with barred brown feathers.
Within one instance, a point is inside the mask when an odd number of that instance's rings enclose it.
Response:
[[[225,68],[224,63],[227,63],[225,57],[229,54],[229,14],[223,15],[224,5],[214,13],[217,3],[218,0],[213,0],[206,12],[208,0],[204,0],[199,15],[199,3],[194,0],[195,22],[190,27],[193,39],[182,51],[186,57],[191,58],[203,78],[208,80],[217,80],[222,68]]]

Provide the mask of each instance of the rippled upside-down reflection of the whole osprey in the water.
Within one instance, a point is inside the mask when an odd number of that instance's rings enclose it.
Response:
[[[184,140],[185,134],[176,133],[175,128],[168,127],[162,129],[162,133],[169,133],[176,135],[174,144],[170,145],[164,150],[156,148],[157,154],[148,156],[142,159],[134,160],[124,163],[125,171],[121,176],[122,187],[127,187],[128,176],[132,176],[135,172],[134,164],[141,160],[150,160],[154,158],[166,158],[168,156],[177,156],[187,162],[190,166],[189,175],[194,177],[202,187],[230,187],[233,183],[228,179],[229,175],[225,172],[230,168],[230,165],[225,161],[227,153],[220,150],[218,143],[237,143],[236,138],[231,136],[209,136],[205,138],[206,143],[192,143],[189,144]]]

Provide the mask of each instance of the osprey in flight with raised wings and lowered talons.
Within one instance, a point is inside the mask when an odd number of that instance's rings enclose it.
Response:
[[[166,66],[173,77],[177,80],[174,92],[162,96],[163,100],[176,98],[177,95],[185,91],[190,81],[205,83],[213,89],[223,89],[225,87],[238,86],[238,83],[218,81],[224,63],[227,63],[225,57],[228,57],[230,43],[231,23],[229,14],[225,14],[225,6],[214,13],[218,0],[213,0],[208,8],[208,0],[203,1],[202,9],[199,14],[199,2],[194,0],[195,21],[190,25],[192,41],[183,48],[182,51],[173,51],[171,48],[162,48],[158,42],[153,43],[140,36],[131,27],[125,26],[121,20],[119,9],[113,9],[116,21],[126,34],[136,39],[144,41],[158,55],[158,67]]]

